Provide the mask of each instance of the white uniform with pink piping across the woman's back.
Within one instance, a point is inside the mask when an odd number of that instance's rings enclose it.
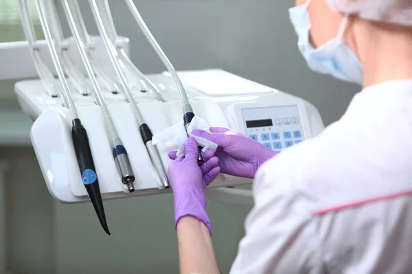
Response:
[[[412,79],[266,162],[231,273],[412,273]]]

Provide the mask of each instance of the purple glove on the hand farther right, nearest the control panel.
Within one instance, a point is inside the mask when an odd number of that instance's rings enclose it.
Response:
[[[220,171],[227,175],[253,179],[256,171],[277,154],[251,138],[223,127],[211,127],[210,132],[195,129],[192,134],[214,142],[219,147]]]

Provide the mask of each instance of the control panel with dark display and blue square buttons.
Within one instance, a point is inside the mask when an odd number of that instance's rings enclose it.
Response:
[[[275,151],[305,140],[297,105],[242,109],[246,134]]]

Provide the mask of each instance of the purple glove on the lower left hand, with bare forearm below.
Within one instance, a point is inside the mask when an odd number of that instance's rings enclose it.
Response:
[[[169,153],[176,158],[176,151]],[[168,169],[170,186],[174,197],[174,226],[183,216],[193,216],[203,221],[211,235],[211,223],[206,213],[207,199],[205,188],[220,173],[219,160],[212,151],[203,153],[203,164],[198,165],[198,145],[194,138],[185,144],[185,157],[177,158]]]

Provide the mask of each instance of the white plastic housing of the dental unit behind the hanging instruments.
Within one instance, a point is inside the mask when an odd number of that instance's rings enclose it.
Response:
[[[190,72],[184,73],[182,79],[191,79]],[[190,81],[190,84],[186,84],[184,80],[183,84],[195,114],[205,119],[210,125],[231,127],[245,133],[242,108],[297,105],[306,138],[317,136],[323,130],[323,122],[319,112],[303,99],[260,84],[255,84],[256,88],[254,89],[253,82],[225,71],[195,71],[194,73],[196,77]],[[201,77],[202,73],[206,73],[205,79],[209,82],[207,87],[205,87],[204,79]],[[211,75],[218,75],[216,82]],[[134,93],[146,123],[156,134],[181,122],[183,113],[179,93],[173,80],[165,74],[148,75],[148,78],[155,83],[163,97],[169,101],[161,103],[148,92],[136,91]],[[196,82],[199,84],[197,85]],[[220,88],[220,90],[227,90],[228,96],[221,94],[221,92],[215,92],[214,96],[211,96],[213,94],[211,90],[217,90],[216,85],[221,82],[225,82],[225,89]],[[236,93],[238,87],[246,82],[249,92],[242,90],[241,94]],[[216,83],[215,86],[213,83]],[[70,112],[62,108],[60,98],[50,98],[45,95],[41,82],[38,80],[19,82],[15,89],[23,111],[35,120],[31,133],[32,144],[49,192],[58,201],[65,203],[89,201],[82,185],[76,155],[73,151]],[[93,103],[91,97],[82,97],[77,93],[73,93],[73,96],[76,105],[78,105],[80,119],[89,134],[103,199],[153,195],[170,191],[158,188],[159,182],[156,182],[153,176],[154,171],[146,147],[141,141],[135,117],[122,95],[113,95],[107,92],[104,96],[136,175],[136,191],[133,193],[126,192],[126,188],[117,174],[100,108]],[[168,151],[161,146],[159,149],[163,164],[167,169],[168,164],[170,164],[167,156]],[[250,204],[252,203],[250,190],[216,188],[248,183],[251,183],[251,180],[220,175],[211,184],[210,187],[214,189],[208,191],[208,195],[214,199],[231,203]]]

